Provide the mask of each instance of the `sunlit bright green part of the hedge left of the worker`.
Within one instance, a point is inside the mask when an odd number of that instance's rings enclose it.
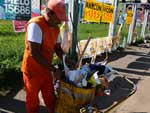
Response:
[[[19,70],[24,51],[23,34],[0,38],[0,72],[4,69]]]

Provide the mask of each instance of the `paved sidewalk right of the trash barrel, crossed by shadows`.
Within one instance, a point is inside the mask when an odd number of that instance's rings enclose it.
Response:
[[[137,85],[137,91],[111,113],[149,113],[150,48],[130,47],[123,53],[126,56],[109,65],[129,77]]]

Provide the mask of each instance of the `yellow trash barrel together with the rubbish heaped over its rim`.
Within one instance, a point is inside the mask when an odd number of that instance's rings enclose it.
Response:
[[[58,113],[99,112],[100,109],[95,107],[97,104],[94,104],[94,100],[97,97],[111,98],[113,95],[111,84],[118,77],[123,78],[123,76],[106,65],[106,62],[85,63],[80,68],[74,68],[65,63],[65,58],[66,56],[63,56],[63,75],[55,84],[56,111]]]

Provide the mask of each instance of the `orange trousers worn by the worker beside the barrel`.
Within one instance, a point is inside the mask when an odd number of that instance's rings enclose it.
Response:
[[[40,113],[39,91],[41,91],[49,113],[54,113],[55,96],[52,74],[36,74],[30,76],[23,73],[23,80],[26,90],[27,113]]]

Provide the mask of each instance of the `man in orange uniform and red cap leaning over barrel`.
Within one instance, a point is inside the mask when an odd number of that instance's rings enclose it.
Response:
[[[58,25],[67,21],[64,0],[49,0],[42,16],[34,17],[27,23],[25,51],[21,70],[26,90],[28,113],[39,113],[38,94],[41,91],[49,113],[54,113],[55,95],[52,66],[53,53],[61,57],[62,49],[57,43]]]

